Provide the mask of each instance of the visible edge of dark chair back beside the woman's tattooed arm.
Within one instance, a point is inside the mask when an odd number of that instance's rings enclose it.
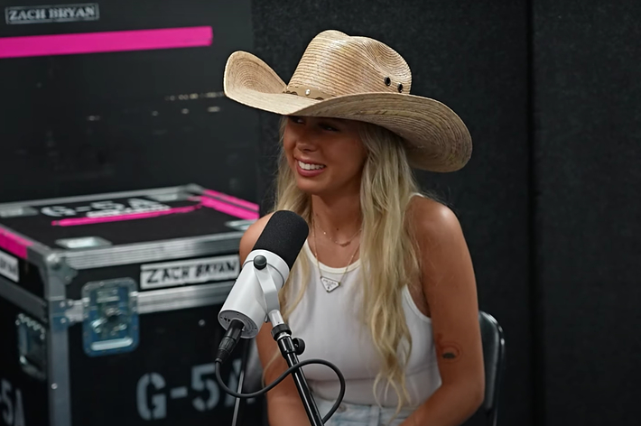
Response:
[[[481,409],[485,411],[488,426],[496,426],[498,395],[506,361],[506,340],[503,329],[487,312],[479,311],[483,362],[485,364],[485,399]]]

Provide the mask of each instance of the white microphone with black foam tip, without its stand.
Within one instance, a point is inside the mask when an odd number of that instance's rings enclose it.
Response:
[[[269,313],[280,310],[278,291],[308,234],[307,222],[293,211],[278,210],[269,218],[218,312],[218,322],[227,331],[218,346],[217,362],[229,357],[239,338],[255,338]]]

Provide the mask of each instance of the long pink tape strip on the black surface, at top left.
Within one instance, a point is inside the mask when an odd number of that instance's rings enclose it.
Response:
[[[210,26],[0,38],[0,58],[209,46]]]

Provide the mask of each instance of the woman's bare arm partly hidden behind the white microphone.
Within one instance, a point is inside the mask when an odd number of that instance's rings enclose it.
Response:
[[[263,232],[269,218],[271,215],[258,219],[246,230],[240,240],[240,264],[245,262],[247,255],[254,248],[255,242]],[[281,356],[271,331],[271,324],[265,323],[256,336],[258,357],[265,371],[265,384],[274,382],[287,369],[287,363]],[[273,357],[275,357],[274,362],[270,364]],[[266,399],[267,415],[271,426],[305,426],[310,424],[291,375],[269,391],[266,394]]]

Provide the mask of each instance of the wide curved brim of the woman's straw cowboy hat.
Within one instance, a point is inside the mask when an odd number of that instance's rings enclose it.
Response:
[[[448,106],[429,97],[392,92],[311,99],[285,93],[287,85],[263,60],[233,53],[225,66],[225,95],[246,106],[282,116],[323,116],[380,125],[404,138],[407,158],[418,169],[457,171],[472,151],[467,126]]]

